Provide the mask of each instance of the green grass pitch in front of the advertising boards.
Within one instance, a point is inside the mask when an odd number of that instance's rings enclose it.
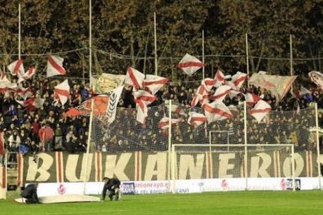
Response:
[[[122,201],[25,205],[0,201],[0,214],[323,214],[323,191],[205,192],[122,196]]]

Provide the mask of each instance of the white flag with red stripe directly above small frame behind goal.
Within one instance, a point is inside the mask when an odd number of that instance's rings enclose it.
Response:
[[[203,109],[208,122],[226,120],[233,116],[230,109],[225,106],[223,102],[212,102],[210,104],[205,104]]]

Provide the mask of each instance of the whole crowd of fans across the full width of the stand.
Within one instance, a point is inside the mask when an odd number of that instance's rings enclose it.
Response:
[[[17,103],[15,100],[21,100],[19,95],[14,93],[0,93],[0,129],[3,131],[5,148],[8,151],[21,152],[22,154],[57,150],[67,150],[71,153],[85,151],[87,148],[89,117],[64,117],[63,113],[67,111],[70,106],[78,106],[78,104],[81,104],[91,96],[89,84],[86,84],[82,80],[69,80],[71,95],[68,102],[62,106],[60,102],[54,99],[54,86],[61,81],[63,80],[47,79],[42,76],[36,76],[32,78],[32,80],[23,82],[23,87],[30,87],[30,89],[32,89],[32,96],[45,99],[43,107],[35,111],[27,111]],[[12,82],[16,82],[16,79],[12,80]],[[181,82],[170,82],[157,93],[158,100],[153,102],[151,106],[161,109],[160,104],[163,104],[164,101],[170,99],[189,109],[190,102],[194,97],[194,93],[196,93],[198,85],[199,82],[186,82],[185,84]],[[212,92],[214,92],[214,90],[215,89],[212,89]],[[307,108],[311,102],[318,102],[319,108],[322,109],[322,91],[315,87],[312,87],[309,90],[311,91],[311,94],[308,93],[300,96],[287,93],[285,98],[278,102],[278,105],[275,105],[277,100],[276,96],[266,89],[260,89],[254,86],[250,86],[249,88],[243,87],[241,89],[243,93],[249,92],[261,95],[263,100],[271,104],[273,109],[296,111],[297,109]],[[241,104],[243,100],[244,98],[242,95],[238,95],[235,98],[227,96],[224,102],[227,106],[236,106]],[[135,101],[133,96],[131,96],[131,90],[123,91],[120,106],[135,108]],[[98,150],[153,150],[153,148],[164,150],[166,148],[165,143],[167,142],[165,131],[161,131],[161,129],[157,128],[157,123],[163,115],[155,114],[161,110],[150,111],[145,126],[142,126],[142,124],[135,120],[135,111],[126,110],[128,109],[119,110],[117,120],[115,120],[115,126],[113,126],[110,132],[98,134],[103,137],[102,140],[98,140],[101,142],[101,144],[98,144]],[[126,120],[125,122],[122,120],[124,117],[132,120]],[[240,142],[243,138],[241,133],[243,122],[241,122],[241,119],[243,119],[243,117],[233,117],[232,120],[229,121],[210,124],[208,125],[207,130],[216,131],[223,130],[225,127],[227,129],[230,127],[234,128],[236,130],[232,131],[234,135],[232,135],[233,139],[231,139],[230,142]],[[281,122],[277,122],[277,124],[279,123],[281,124]],[[127,126],[127,124],[129,124],[129,126]],[[322,125],[323,117],[322,114],[320,114],[320,126]],[[304,124],[304,126],[306,125]],[[125,130],[124,128],[131,128],[131,130]],[[194,131],[193,129],[194,128],[187,123],[180,123],[179,126],[175,126],[173,131],[175,133],[173,137],[174,141],[181,143],[208,142],[208,135],[205,135],[205,128],[203,128],[203,126],[194,129]],[[278,135],[278,131],[274,131],[271,128],[265,130],[265,133],[268,135],[260,135],[260,128],[256,126],[250,131],[252,135],[248,138],[251,142],[278,142],[278,140],[284,142],[282,140],[283,137]],[[263,132],[263,130],[261,130],[261,132]],[[269,135],[272,133],[275,135]],[[291,134],[285,135],[291,136]],[[228,135],[218,134],[216,138],[227,139],[227,136]],[[266,139],[267,137],[268,139]],[[236,138],[236,140],[234,140],[234,138]],[[287,137],[287,139],[291,138]],[[225,140],[223,140],[223,142],[225,142]]]

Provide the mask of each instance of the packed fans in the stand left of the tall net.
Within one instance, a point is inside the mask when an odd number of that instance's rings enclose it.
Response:
[[[16,78],[11,80],[16,82]],[[35,76],[23,82],[30,87],[32,98],[43,98],[41,109],[27,111],[16,100],[23,100],[12,91],[0,93],[0,129],[3,131],[5,149],[9,152],[26,153],[68,150],[85,151],[89,129],[88,117],[64,117],[70,106],[77,106],[90,95],[89,85],[82,80],[71,79],[71,95],[62,106],[54,97],[54,87],[63,79],[47,79]],[[15,156],[10,155],[14,161]]]

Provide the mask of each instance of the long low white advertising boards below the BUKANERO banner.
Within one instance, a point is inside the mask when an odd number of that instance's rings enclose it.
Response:
[[[122,181],[123,194],[163,194],[171,192],[174,181]],[[291,178],[249,178],[247,190],[292,190]],[[59,196],[65,194],[101,195],[103,182],[89,183],[40,183],[38,196]],[[243,191],[246,186],[244,178],[236,179],[191,179],[176,180],[176,193]],[[318,190],[318,177],[296,178],[296,190]]]

